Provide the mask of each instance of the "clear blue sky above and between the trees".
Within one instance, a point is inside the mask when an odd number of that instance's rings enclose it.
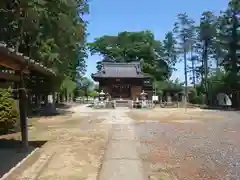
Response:
[[[155,38],[162,40],[165,33],[173,28],[178,13],[187,13],[196,22],[203,11],[216,14],[226,9],[228,0],[91,0],[87,16],[88,41],[103,35],[116,35],[121,31],[151,30]],[[87,59],[87,73],[96,72],[96,62],[101,57],[94,55]],[[171,79],[184,79],[183,64]]]

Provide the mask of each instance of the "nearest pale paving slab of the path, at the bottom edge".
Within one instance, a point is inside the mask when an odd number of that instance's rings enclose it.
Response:
[[[146,180],[140,160],[107,160],[99,180]]]

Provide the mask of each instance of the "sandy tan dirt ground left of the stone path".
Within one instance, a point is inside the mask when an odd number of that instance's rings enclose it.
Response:
[[[102,113],[75,113],[41,118],[29,128],[30,141],[47,141],[38,159],[24,164],[24,171],[14,178],[86,179],[99,175],[108,139],[108,127],[101,124]]]

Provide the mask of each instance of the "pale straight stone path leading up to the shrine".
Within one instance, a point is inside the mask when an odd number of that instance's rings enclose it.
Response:
[[[142,161],[137,152],[133,120],[124,111],[109,113],[105,123],[112,124],[109,143],[100,172],[100,180],[145,180]]]

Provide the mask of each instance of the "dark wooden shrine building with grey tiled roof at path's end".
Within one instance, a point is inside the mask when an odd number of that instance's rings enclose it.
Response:
[[[152,98],[151,78],[142,72],[140,62],[103,62],[101,70],[92,74],[92,78],[112,99],[136,100],[143,90],[148,99]]]

